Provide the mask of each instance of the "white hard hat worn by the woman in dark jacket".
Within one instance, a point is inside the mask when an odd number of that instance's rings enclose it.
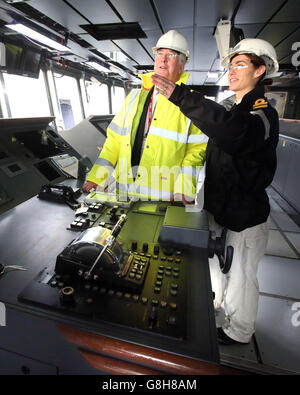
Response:
[[[233,50],[223,59],[222,66],[229,68],[230,59],[235,55],[253,54],[263,59],[266,65],[266,77],[271,77],[278,71],[279,65],[274,47],[260,38],[244,38]]]

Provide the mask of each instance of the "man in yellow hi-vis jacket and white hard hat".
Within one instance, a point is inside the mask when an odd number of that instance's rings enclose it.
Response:
[[[155,73],[177,84],[186,83],[188,74],[183,70],[189,50],[180,33],[170,30],[161,36],[153,52]],[[193,202],[208,139],[154,89],[152,74],[141,76],[142,88],[130,92],[108,126],[84,191],[105,190],[115,180],[116,190],[123,195]]]

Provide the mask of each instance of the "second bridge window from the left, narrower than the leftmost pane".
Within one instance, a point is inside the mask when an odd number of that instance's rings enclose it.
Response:
[[[71,129],[83,120],[78,81],[57,73],[54,73],[54,81],[64,128]]]

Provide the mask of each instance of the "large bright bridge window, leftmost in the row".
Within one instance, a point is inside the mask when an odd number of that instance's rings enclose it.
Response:
[[[6,73],[3,78],[12,118],[51,115],[42,72],[39,78]]]

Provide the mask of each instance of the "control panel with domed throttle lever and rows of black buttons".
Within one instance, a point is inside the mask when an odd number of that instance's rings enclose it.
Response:
[[[138,208],[124,209],[92,203],[78,210],[69,227],[74,240],[19,300],[93,322],[184,340],[188,251],[158,242],[166,211],[159,203],[152,204],[154,210],[149,203],[145,210],[137,204]],[[82,221],[90,226],[84,231]]]

